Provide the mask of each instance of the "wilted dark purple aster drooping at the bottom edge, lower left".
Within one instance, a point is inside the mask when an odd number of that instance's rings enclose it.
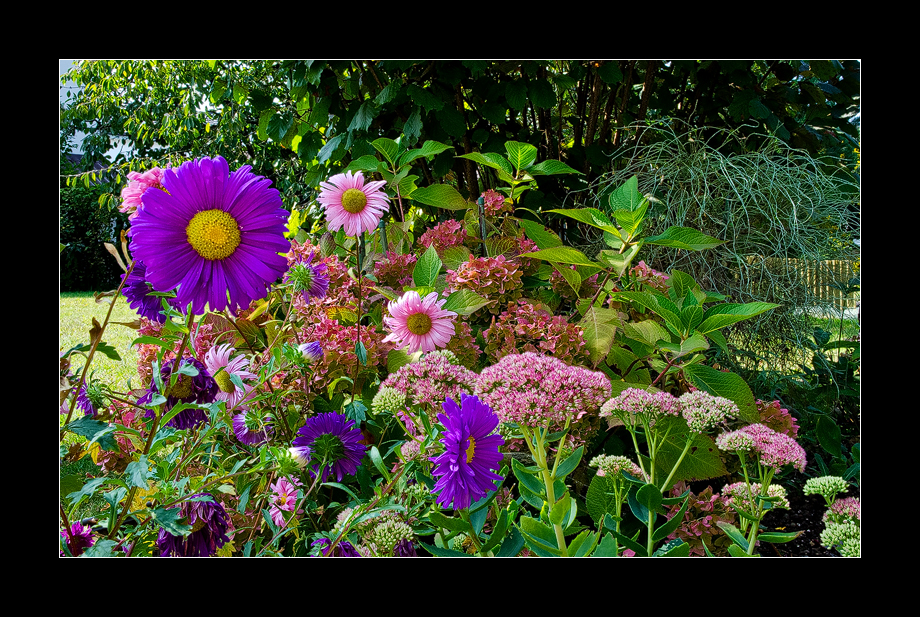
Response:
[[[210,557],[230,541],[230,517],[224,507],[209,493],[192,495],[195,497],[209,497],[211,501],[182,503],[182,516],[188,519],[192,532],[185,537],[174,536],[161,527],[157,536],[161,557]]]

